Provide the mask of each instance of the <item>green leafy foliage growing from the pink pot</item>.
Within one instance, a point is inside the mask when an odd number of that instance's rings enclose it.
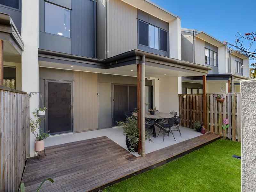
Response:
[[[43,120],[44,119],[40,118],[36,118],[36,120],[30,118],[29,126],[31,127],[31,132],[33,133],[33,135],[35,135],[37,141],[46,139],[50,135],[50,131],[44,133],[42,128],[40,128]],[[39,133],[36,131],[37,129],[39,130]]]

